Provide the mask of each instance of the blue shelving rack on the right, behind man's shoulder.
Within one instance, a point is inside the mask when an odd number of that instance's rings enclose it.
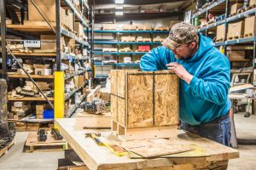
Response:
[[[227,31],[228,31],[228,24],[234,21],[239,21],[247,18],[248,16],[252,16],[256,14],[256,8],[250,8],[246,11],[240,12],[239,14],[235,14],[230,16],[230,6],[232,4],[236,3],[236,1],[231,1],[231,0],[218,0],[217,2],[213,2],[212,4],[208,5],[206,8],[203,8],[201,11],[196,12],[192,16],[192,24],[195,25],[195,18],[196,17],[202,17],[207,20],[207,25],[206,26],[201,26],[198,31],[201,31],[206,36],[208,35],[209,31],[214,30],[217,26],[224,25],[225,28],[225,36],[224,36],[224,41],[221,42],[215,42],[214,45],[215,47],[223,47],[224,49],[224,54],[227,54],[227,46],[228,45],[251,45],[253,46],[253,59],[230,59],[230,62],[251,62],[251,66],[254,68],[254,63],[255,63],[255,56],[256,56],[256,37],[255,37],[255,31],[253,34],[253,37],[243,37],[243,38],[238,38],[238,39],[232,39],[228,40],[227,39]],[[208,24],[208,14],[224,14],[224,19],[223,20],[218,20],[214,21],[212,23]],[[231,70],[231,73],[234,72]],[[236,71],[235,71],[236,72]],[[250,71],[253,73],[253,71]],[[251,82],[253,83],[253,77],[251,77]]]

